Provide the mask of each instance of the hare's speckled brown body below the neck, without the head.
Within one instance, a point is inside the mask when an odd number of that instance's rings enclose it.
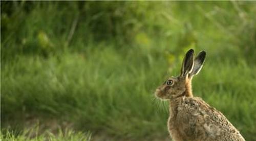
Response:
[[[226,117],[201,98],[170,101],[168,130],[174,140],[245,140]]]

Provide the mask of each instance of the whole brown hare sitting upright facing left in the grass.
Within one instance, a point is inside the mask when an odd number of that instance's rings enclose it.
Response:
[[[155,92],[156,97],[169,101],[169,134],[175,141],[245,140],[220,111],[193,96],[191,80],[202,68],[205,56],[201,51],[194,59],[194,50],[189,50],[180,76],[170,77]]]

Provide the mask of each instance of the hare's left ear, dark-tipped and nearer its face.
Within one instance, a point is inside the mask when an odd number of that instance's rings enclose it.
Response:
[[[190,49],[182,62],[181,70],[180,70],[180,76],[184,77],[187,74],[191,73],[194,65],[194,50]]]

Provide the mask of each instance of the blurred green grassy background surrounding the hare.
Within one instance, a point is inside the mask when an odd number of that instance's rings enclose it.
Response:
[[[1,138],[169,140],[154,91],[207,52],[194,95],[256,140],[255,2],[1,1]]]

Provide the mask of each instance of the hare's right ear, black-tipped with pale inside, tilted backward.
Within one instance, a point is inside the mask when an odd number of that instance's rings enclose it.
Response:
[[[189,73],[188,77],[192,77],[194,75],[197,75],[201,68],[203,67],[203,63],[206,57],[206,52],[205,51],[201,51],[198,56],[195,58],[194,60],[194,66],[192,71]]]

